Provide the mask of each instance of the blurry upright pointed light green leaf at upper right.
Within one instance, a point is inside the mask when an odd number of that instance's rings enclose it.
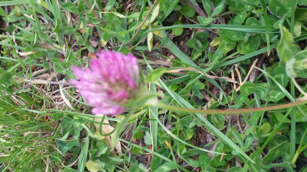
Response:
[[[285,28],[283,25],[279,25],[279,27],[282,37],[278,46],[276,47],[277,53],[282,61],[288,62],[294,54],[293,38],[287,28]]]

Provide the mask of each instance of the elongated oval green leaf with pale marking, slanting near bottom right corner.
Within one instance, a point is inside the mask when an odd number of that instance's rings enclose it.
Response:
[[[262,163],[263,164],[270,163],[275,159],[280,158],[282,155],[286,153],[285,150],[288,150],[288,146],[289,144],[284,142],[276,146],[275,148],[270,149],[268,154],[262,159]]]

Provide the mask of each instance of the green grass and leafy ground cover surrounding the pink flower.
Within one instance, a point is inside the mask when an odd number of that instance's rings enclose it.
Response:
[[[0,171],[306,171],[307,106],[287,105],[306,100],[304,1],[65,2],[0,2]],[[69,82],[100,49],[156,75],[126,115],[92,115]]]

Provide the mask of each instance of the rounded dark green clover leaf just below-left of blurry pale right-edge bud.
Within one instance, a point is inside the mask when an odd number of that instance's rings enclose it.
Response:
[[[271,76],[277,80],[279,84],[282,85],[282,87],[286,87],[289,81],[289,77],[287,76],[286,68],[282,66],[278,66],[273,69]],[[273,88],[276,90],[280,90],[278,85],[275,82],[272,82]]]

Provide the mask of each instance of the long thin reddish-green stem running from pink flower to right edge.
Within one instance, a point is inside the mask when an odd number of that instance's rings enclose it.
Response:
[[[231,109],[231,110],[218,110],[218,109],[189,109],[183,107],[176,107],[171,105],[166,105],[164,103],[155,102],[153,104],[147,104],[148,106],[157,106],[162,109],[168,109],[173,111],[180,111],[185,113],[200,113],[200,114],[246,114],[246,113],[253,113],[253,112],[263,112],[263,111],[271,111],[271,110],[279,110],[279,109],[286,109],[289,107],[299,106],[306,104],[307,100],[287,103],[282,105],[274,105],[268,107],[259,107],[259,108],[251,108],[251,109]]]

